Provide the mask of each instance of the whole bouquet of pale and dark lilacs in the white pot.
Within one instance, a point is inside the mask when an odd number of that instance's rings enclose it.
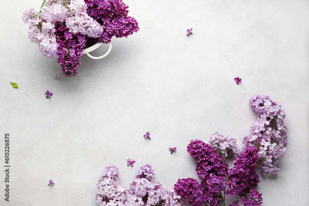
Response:
[[[61,71],[71,77],[78,74],[87,41],[108,43],[112,36],[128,37],[139,30],[127,8],[122,0],[44,0],[39,12],[29,8],[22,19],[30,25],[28,39],[45,57],[59,55]]]

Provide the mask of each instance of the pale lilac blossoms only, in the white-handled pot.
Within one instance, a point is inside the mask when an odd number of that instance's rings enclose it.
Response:
[[[39,44],[39,49],[45,57],[57,54],[55,24],[66,22],[66,27],[73,34],[82,34],[98,38],[103,33],[103,27],[87,14],[84,0],[46,0],[39,12],[29,8],[23,12],[23,23],[29,23],[31,42]]]

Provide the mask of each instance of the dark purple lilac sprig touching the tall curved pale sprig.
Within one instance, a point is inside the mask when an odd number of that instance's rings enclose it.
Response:
[[[262,205],[262,194],[253,189],[260,182],[259,176],[254,171],[259,160],[257,151],[258,149],[254,147],[243,150],[234,160],[234,168],[230,170],[229,179],[231,181],[229,181],[226,195],[233,196],[235,193],[240,195],[241,203],[244,206]]]

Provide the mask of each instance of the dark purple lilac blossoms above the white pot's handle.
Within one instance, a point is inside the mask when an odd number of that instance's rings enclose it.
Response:
[[[129,6],[122,0],[85,0],[87,13],[104,27],[99,42],[107,44],[112,36],[128,37],[139,30],[138,22],[128,15]]]

